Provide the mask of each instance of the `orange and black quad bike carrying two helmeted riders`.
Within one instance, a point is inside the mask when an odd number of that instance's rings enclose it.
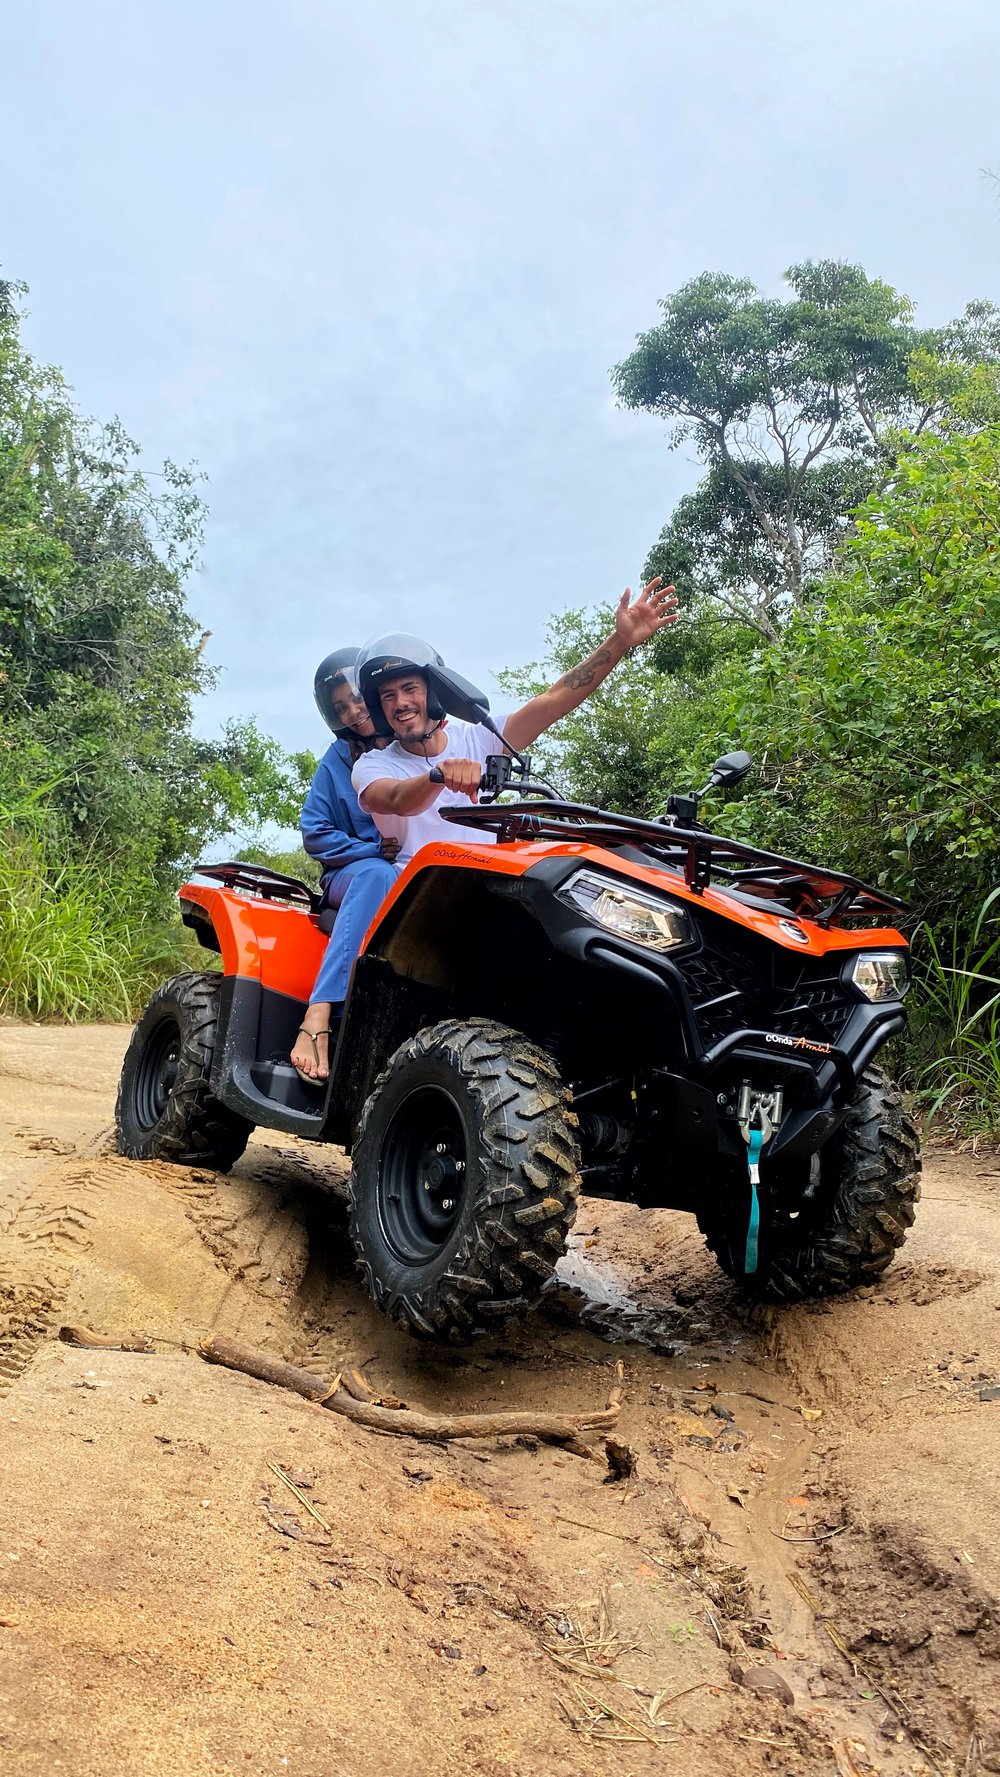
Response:
[[[332,915],[274,871],[199,867],[183,919],[222,972],[149,1000],[119,1150],[226,1171],[254,1127],[343,1144],[368,1290],[435,1340],[538,1301],[581,1187],[689,1210],[762,1297],[874,1281],[920,1194],[876,1066],[904,1024],[901,903],[709,832],[703,794],[636,819],[492,759],[481,803],[448,810],[460,842],[382,903],[321,1089],[288,1056]]]

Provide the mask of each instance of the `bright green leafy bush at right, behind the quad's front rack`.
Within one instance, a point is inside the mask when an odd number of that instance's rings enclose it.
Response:
[[[972,924],[1000,848],[1000,428],[924,437],[782,640],[730,675],[730,817]]]

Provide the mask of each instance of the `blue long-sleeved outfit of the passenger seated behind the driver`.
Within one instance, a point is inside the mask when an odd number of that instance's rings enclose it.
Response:
[[[298,821],[306,851],[323,865],[323,901],[337,908],[311,995],[334,1006],[346,999],[361,940],[398,874],[380,853],[375,821],[359,809],[350,768],[346,741],[334,741],[316,766]]]

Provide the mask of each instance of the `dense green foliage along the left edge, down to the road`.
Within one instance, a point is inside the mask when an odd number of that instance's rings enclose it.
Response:
[[[211,682],[185,599],[199,476],[142,473],[117,421],[80,419],[62,375],[25,354],[18,295],[0,286],[0,830],[14,873],[0,974],[36,970],[34,1000],[9,988],[21,1011],[121,1009],[146,981],[128,931],[155,928],[162,949],[185,860],[220,832],[293,823],[314,762],[252,721],[194,734]],[[117,986],[82,960],[76,984],[66,961],[64,992],[44,986],[44,933],[73,929],[60,954],[94,960],[101,910]]]

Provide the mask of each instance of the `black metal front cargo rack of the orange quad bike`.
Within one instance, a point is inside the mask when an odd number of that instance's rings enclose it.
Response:
[[[718,881],[757,899],[767,899],[817,926],[838,926],[847,919],[904,912],[904,903],[881,888],[872,888],[842,871],[821,871],[776,851],[762,851],[741,839],[725,839],[703,826],[675,826],[671,821],[641,821],[638,816],[591,809],[581,801],[542,798],[508,801],[480,809],[442,809],[446,821],[496,832],[501,842],[517,839],[561,839],[607,846],[641,846],[670,869],[684,874],[693,894]]]

